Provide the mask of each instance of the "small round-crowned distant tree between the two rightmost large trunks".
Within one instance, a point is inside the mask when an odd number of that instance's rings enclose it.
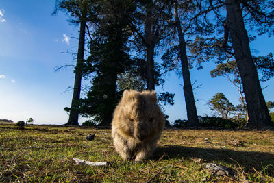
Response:
[[[223,95],[216,93],[210,101],[208,101],[210,109],[221,115],[223,119],[229,119],[229,113],[236,110],[235,106]]]

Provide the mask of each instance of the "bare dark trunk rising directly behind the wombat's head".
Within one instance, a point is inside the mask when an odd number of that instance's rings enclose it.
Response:
[[[154,48],[155,41],[152,30],[151,10],[147,8],[145,17],[145,47],[147,50],[147,90],[155,90],[155,79],[154,79]]]

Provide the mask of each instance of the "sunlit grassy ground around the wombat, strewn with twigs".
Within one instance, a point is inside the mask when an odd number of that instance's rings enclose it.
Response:
[[[213,173],[208,162],[234,175]],[[0,123],[0,182],[274,182],[273,164],[271,131],[165,130],[153,158],[134,163],[114,151],[108,129]]]

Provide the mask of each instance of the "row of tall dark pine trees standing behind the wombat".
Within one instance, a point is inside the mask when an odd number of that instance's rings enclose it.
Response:
[[[79,114],[110,125],[123,90],[154,90],[173,70],[184,82],[188,126],[200,125],[190,68],[201,69],[208,60],[223,64],[212,77],[225,75],[238,87],[247,126],[273,125],[258,77],[258,69],[262,81],[273,77],[273,54],[254,57],[249,47],[255,39],[251,34],[273,36],[272,1],[56,0],[54,13],[58,10],[79,25],[73,99],[65,108],[70,113],[68,125],[79,125]],[[81,98],[82,78],[91,86]],[[169,92],[158,96],[171,105],[173,97]],[[222,117],[228,119],[227,115]]]

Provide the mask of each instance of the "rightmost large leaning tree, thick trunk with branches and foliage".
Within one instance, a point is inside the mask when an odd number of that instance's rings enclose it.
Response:
[[[223,38],[211,36],[203,41],[209,41],[211,47],[207,48],[207,52],[220,53],[222,50],[233,56],[236,60],[240,77],[242,80],[243,91],[247,102],[247,111],[249,115],[248,126],[251,128],[268,127],[273,125],[269,117],[262,88],[260,86],[258,73],[254,64],[253,57],[249,47],[249,41],[253,40],[252,36],[247,34],[248,27],[255,30],[258,34],[273,34],[274,23],[274,5],[272,1],[236,1],[236,0],[208,0],[199,1],[203,8],[201,14],[204,14],[203,21],[209,23],[211,9],[216,19],[212,23],[212,27],[216,27],[216,33],[223,33]],[[226,16],[223,14],[222,7],[226,8]],[[212,20],[212,19],[211,19]],[[215,48],[214,48],[215,47]],[[201,50],[201,49],[200,49]],[[221,56],[219,55],[219,58]],[[227,57],[228,58],[228,57]]]

